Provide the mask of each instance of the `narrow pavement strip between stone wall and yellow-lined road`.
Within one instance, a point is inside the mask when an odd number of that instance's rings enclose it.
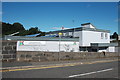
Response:
[[[117,57],[111,58],[98,58],[98,59],[80,59],[80,60],[66,60],[66,61],[46,61],[46,62],[3,62],[2,68],[9,67],[27,67],[27,66],[38,66],[38,65],[53,65],[53,64],[64,64],[64,63],[84,63],[102,60],[118,60]],[[1,69],[1,68],[0,68]]]

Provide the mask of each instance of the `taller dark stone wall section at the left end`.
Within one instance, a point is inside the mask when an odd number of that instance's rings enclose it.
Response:
[[[3,60],[16,59],[17,41],[2,41]]]

